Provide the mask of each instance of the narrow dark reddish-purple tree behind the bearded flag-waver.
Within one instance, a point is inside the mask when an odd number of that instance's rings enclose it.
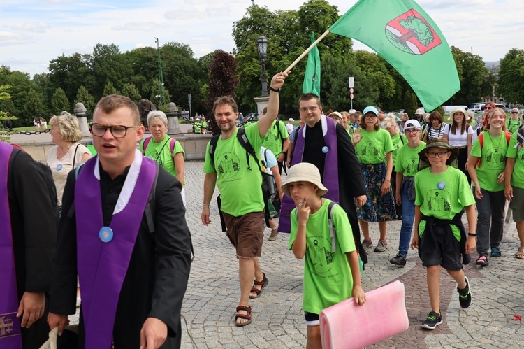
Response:
[[[210,64],[211,78],[208,87],[208,100],[205,104],[212,134],[220,133],[217,122],[214,120],[214,101],[221,96],[236,97],[235,90],[238,85],[238,78],[235,75],[236,65],[235,59],[229,53],[222,50],[214,52],[214,58]]]

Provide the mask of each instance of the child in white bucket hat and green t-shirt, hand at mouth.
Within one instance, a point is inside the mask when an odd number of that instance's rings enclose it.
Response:
[[[291,212],[289,249],[298,259],[305,259],[306,348],[321,348],[320,312],[351,297],[360,306],[365,301],[355,241],[346,213],[335,204],[331,209],[333,243],[328,222],[332,201],[322,197],[328,190],[321,183],[316,166],[307,162],[291,166],[282,191],[296,204]]]

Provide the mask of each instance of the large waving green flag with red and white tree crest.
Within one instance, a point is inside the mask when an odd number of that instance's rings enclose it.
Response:
[[[460,90],[446,38],[413,0],[360,0],[329,31],[361,41],[386,59],[412,86],[426,111]]]

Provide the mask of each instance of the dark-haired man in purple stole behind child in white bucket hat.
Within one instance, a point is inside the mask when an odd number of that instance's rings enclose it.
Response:
[[[310,162],[319,169],[321,182],[329,190],[325,197],[337,202],[346,211],[361,259],[367,262],[361,245],[355,206],[355,201],[358,206],[365,204],[366,190],[353,143],[342,124],[322,115],[322,106],[316,94],[303,94],[298,99],[298,106],[305,127],[298,132],[291,165]],[[284,197],[279,231],[289,232],[291,229],[287,210],[291,212],[294,207],[291,198]]]

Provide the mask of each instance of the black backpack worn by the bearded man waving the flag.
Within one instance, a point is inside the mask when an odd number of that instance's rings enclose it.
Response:
[[[221,134],[215,134],[210,141],[210,147],[209,147],[209,153],[210,153],[210,159],[211,164],[214,167],[214,152],[217,150],[217,143],[218,138],[221,136]],[[249,156],[252,156],[253,159],[256,162],[256,166],[259,167],[260,172],[262,173],[262,196],[264,199],[264,219],[265,224],[269,227],[269,206],[268,206],[268,200],[270,199],[272,194],[275,194],[275,187],[272,185],[273,176],[268,175],[268,173],[265,173],[265,171],[262,171],[262,168],[260,166],[259,157],[256,156],[255,150],[253,149],[253,146],[251,143],[249,143],[249,140],[246,136],[246,130],[243,127],[239,127],[237,131],[237,139],[240,142],[240,145],[242,145],[242,148],[246,150],[246,161],[247,161],[247,169],[249,171],[252,171],[251,165],[249,164]],[[221,199],[217,198],[217,201],[219,203],[219,210],[221,206]],[[220,220],[223,220],[224,218],[221,215],[220,211]],[[222,224],[222,231],[225,232],[224,229],[225,225]]]

